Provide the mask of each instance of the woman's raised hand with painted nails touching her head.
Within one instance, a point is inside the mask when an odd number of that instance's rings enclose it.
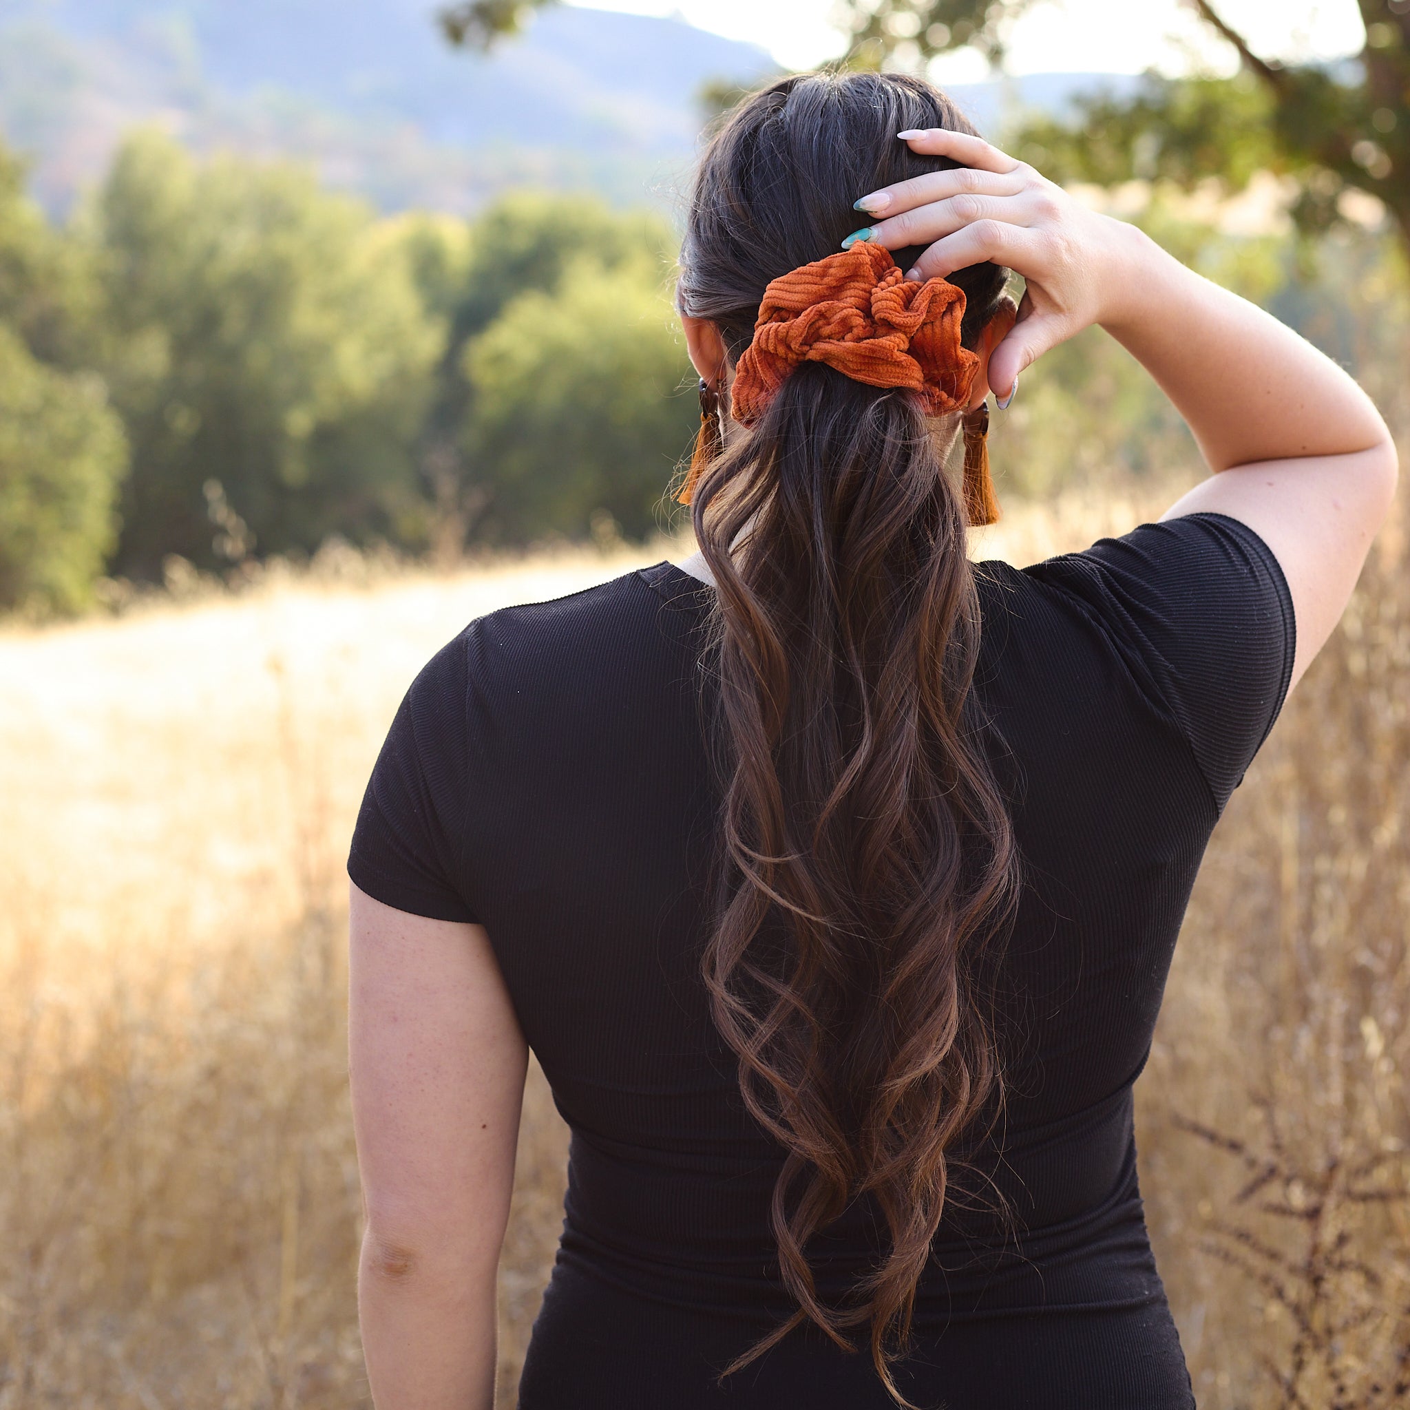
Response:
[[[1132,226],[1079,204],[1060,186],[967,133],[901,133],[911,151],[963,162],[871,192],[857,209],[878,217],[864,237],[887,250],[929,245],[909,279],[945,278],[993,259],[1028,285],[1014,330],[994,350],[988,384],[1012,388],[1049,348],[1093,323],[1120,320],[1149,245]],[[857,237],[849,237],[849,241]]]

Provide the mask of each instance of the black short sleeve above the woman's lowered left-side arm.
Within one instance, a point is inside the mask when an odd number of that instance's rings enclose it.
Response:
[[[368,780],[348,876],[398,911],[475,921],[461,869],[470,797],[464,636],[423,667],[402,699]]]

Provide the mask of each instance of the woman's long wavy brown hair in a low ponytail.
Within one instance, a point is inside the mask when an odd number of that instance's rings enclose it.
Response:
[[[695,179],[678,299],[732,358],[766,285],[832,254],[852,202],[952,166],[911,127],[971,131],[929,85],[812,73],[746,99]],[[907,268],[907,254],[897,262]],[[950,276],[973,345],[1005,271]],[[943,472],[957,417],[805,362],[706,467],[695,534],[715,609],[725,864],[704,959],[753,1115],[787,1149],[773,1198],[794,1316],[890,1362],[946,1196],[946,1151],[995,1097],[974,960],[1004,929],[1017,860],[971,699],[979,650],[964,510]],[[845,1306],[819,1297],[809,1239],[857,1198],[888,1248]]]

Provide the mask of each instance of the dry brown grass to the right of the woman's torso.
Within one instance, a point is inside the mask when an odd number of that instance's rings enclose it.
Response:
[[[1235,792],[1136,1087],[1201,1404],[1410,1400],[1403,515]]]

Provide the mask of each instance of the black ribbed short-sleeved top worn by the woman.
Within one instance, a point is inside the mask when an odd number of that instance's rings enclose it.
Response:
[[[1292,602],[1220,515],[976,572],[974,688],[1024,878],[998,983],[1007,1097],[959,1152],[897,1383],[926,1410],[1186,1410],[1131,1086],[1210,830],[1287,689]],[[891,1404],[864,1349],[807,1328],[718,1382],[791,1306],[768,1228],[781,1152],[699,977],[712,596],[661,563],[472,622],[402,702],[352,839],[369,895],[488,929],[572,1131],[525,1410]],[[825,1297],[877,1237],[859,1203],[809,1248]]]

